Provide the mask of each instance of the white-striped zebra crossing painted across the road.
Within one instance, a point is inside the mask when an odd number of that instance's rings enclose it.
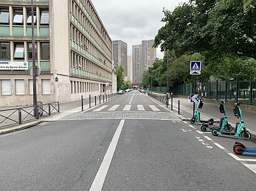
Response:
[[[147,105],[150,108],[150,111],[161,111],[157,106],[155,105]],[[146,106],[145,106],[146,107]],[[144,105],[137,105],[137,111],[145,111]],[[109,105],[102,105],[99,108],[96,108],[92,110],[92,112],[97,112],[97,111],[130,111],[132,108],[132,105],[127,104],[127,105],[114,105],[114,106],[109,106]]]

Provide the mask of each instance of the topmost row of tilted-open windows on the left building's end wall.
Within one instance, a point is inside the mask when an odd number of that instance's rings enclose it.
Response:
[[[24,22],[24,9],[23,7],[13,7],[13,16],[12,24],[14,25],[23,25]],[[34,24],[36,24],[37,18],[37,11],[34,11]],[[0,7],[0,24],[2,25],[9,25],[10,24],[10,17],[9,17],[9,7]],[[49,25],[49,10],[47,9],[39,9],[39,24],[40,25]],[[26,8],[26,24],[29,26],[32,24],[32,13],[30,8]]]

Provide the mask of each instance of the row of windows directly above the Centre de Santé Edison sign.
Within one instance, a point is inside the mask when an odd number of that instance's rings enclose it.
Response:
[[[40,49],[40,51],[38,49]],[[0,60],[11,60],[11,55],[13,55],[14,60],[24,60],[25,52],[27,54],[26,58],[28,60],[32,60],[32,43],[31,42],[12,42],[12,41],[0,42]],[[37,52],[40,52],[39,54],[40,60],[50,60],[49,42],[36,42],[35,43],[36,60],[37,60]]]

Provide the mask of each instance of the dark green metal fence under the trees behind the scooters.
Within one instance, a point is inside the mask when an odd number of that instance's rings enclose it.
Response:
[[[159,93],[167,93],[165,87],[152,87],[152,91]],[[194,84],[177,85],[170,88],[170,93],[174,95],[194,94]],[[216,100],[234,100],[240,103],[256,105],[256,80],[237,81],[209,81],[197,82],[195,93],[202,98],[216,99]]]

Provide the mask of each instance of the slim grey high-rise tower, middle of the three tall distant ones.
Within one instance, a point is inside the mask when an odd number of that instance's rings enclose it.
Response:
[[[141,68],[141,44],[132,45],[132,84],[140,84]]]

